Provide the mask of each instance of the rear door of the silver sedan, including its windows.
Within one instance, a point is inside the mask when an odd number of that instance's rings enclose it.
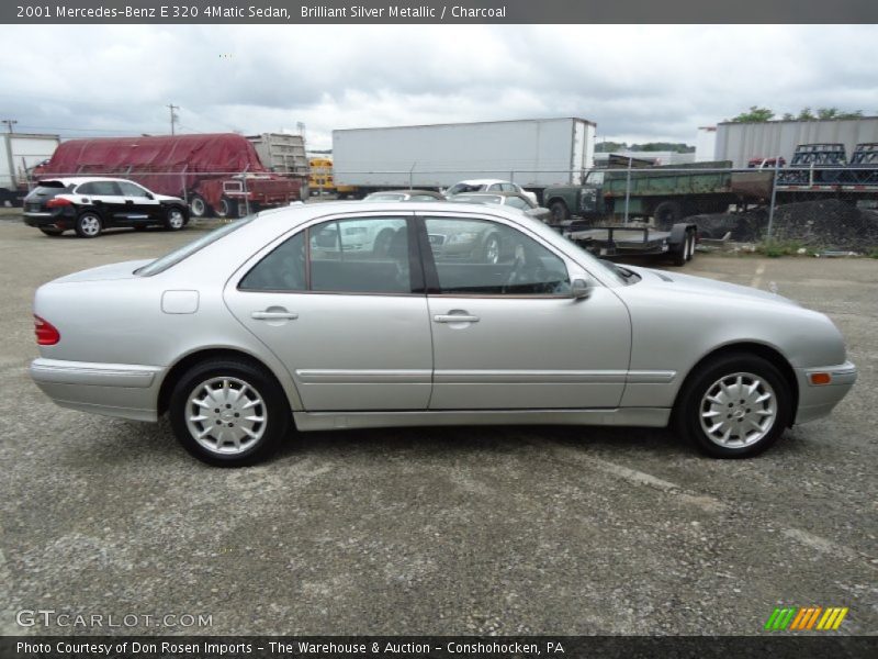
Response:
[[[432,346],[413,222],[320,222],[226,287],[229,309],[283,361],[306,411],[427,409]]]

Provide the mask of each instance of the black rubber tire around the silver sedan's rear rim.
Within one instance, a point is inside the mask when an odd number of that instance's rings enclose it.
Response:
[[[230,453],[235,450],[234,447],[227,447],[228,453],[224,453],[223,447],[232,440],[230,436],[223,434],[217,437],[214,436],[214,433],[210,433],[202,444],[195,439],[189,427],[188,416],[195,410],[202,410],[194,403],[190,404],[190,398],[206,383],[224,379],[230,381],[232,389],[240,387],[240,383],[246,384],[247,391],[261,401],[258,405],[246,407],[249,410],[247,414],[261,415],[264,418],[263,423],[250,426],[254,433],[259,434],[259,438],[251,446],[244,446],[238,453]],[[250,393],[239,394],[238,400],[249,395]],[[247,400],[249,403],[252,402],[250,398]],[[237,404],[235,401],[226,403],[226,409],[223,403],[212,400],[211,406],[213,404],[216,404],[217,407],[204,409],[199,415],[204,416],[205,420],[193,422],[193,427],[205,431],[209,427],[213,428],[215,424],[219,428],[218,432],[226,433],[234,428],[235,423],[240,423],[238,420],[241,417],[236,417],[235,414],[244,414],[244,412],[243,409],[234,406]],[[216,413],[215,410],[219,410],[219,413]],[[203,462],[217,467],[244,467],[266,459],[277,448],[281,438],[286,436],[291,426],[290,405],[274,378],[262,368],[235,359],[210,360],[193,366],[175,386],[168,413],[173,434],[183,448]],[[218,448],[211,449],[205,444],[213,444]]]

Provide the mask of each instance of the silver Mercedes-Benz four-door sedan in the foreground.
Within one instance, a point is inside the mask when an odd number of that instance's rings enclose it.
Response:
[[[378,230],[392,235],[362,239]],[[31,373],[56,403],[168,413],[214,465],[259,460],[293,429],[450,424],[672,424],[745,457],[856,379],[821,313],[614,266],[481,204],[264,211],[52,281],[34,314]]]

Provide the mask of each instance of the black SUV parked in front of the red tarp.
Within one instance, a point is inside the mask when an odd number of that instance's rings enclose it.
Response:
[[[47,179],[24,198],[24,223],[48,236],[72,228],[81,238],[93,238],[113,226],[179,231],[188,222],[182,199],[156,194],[125,179]]]

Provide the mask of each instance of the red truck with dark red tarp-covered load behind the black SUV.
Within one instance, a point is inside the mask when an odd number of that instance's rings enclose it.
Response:
[[[41,178],[86,175],[124,177],[180,197],[193,217],[237,217],[307,196],[304,176],[269,171],[236,133],[70,139],[40,170]]]

